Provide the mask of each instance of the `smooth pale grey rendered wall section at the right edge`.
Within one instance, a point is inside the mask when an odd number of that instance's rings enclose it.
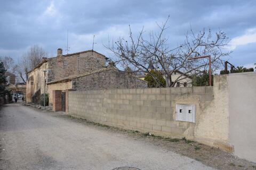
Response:
[[[228,77],[229,140],[238,157],[256,162],[256,73]]]

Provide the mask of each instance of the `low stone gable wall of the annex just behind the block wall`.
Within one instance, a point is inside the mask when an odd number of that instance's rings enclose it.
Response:
[[[147,82],[117,69],[110,69],[74,79],[76,90],[147,88]]]

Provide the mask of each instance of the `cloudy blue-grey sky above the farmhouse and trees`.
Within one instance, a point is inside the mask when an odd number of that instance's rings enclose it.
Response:
[[[166,35],[170,46],[182,43],[186,32],[203,28],[225,31],[230,38],[228,60],[234,65],[252,67],[256,63],[256,1],[255,0],[52,0],[1,1],[0,56],[15,61],[30,46],[43,47],[49,56],[92,49],[111,57],[104,47],[108,40],[127,38],[129,25],[133,32],[144,27],[146,32],[157,31],[170,15]]]

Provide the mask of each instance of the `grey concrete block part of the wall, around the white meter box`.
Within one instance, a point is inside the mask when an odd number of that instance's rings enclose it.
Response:
[[[124,129],[194,140],[195,123],[175,121],[175,105],[195,104],[198,122],[212,100],[212,87],[68,91],[68,114]]]

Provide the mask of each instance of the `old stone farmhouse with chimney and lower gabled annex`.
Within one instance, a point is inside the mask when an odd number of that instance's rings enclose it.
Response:
[[[108,58],[94,50],[57,57],[43,61],[28,72],[27,103],[39,103],[41,94],[49,94],[49,105],[53,105],[53,90],[93,90],[146,88],[147,82],[119,71],[114,65],[106,65]],[[44,84],[46,84],[44,89]]]

